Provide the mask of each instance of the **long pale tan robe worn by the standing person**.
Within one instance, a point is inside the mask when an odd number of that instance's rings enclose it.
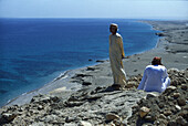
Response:
[[[119,84],[124,86],[126,84],[126,74],[123,69],[122,56],[124,54],[123,48],[123,39],[121,34],[111,34],[109,35],[109,60],[111,60],[111,67],[114,77],[114,84]]]

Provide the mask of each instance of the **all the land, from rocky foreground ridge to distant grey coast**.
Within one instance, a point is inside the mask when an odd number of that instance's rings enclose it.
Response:
[[[186,120],[188,51],[185,50],[188,49],[188,25],[186,25],[188,21],[144,22],[163,31],[157,34],[163,38],[159,39],[156,48],[124,60],[127,74],[125,91],[111,88],[112,72],[109,62],[105,61],[93,66],[69,71],[66,78],[62,80],[64,76],[61,76],[42,88],[17,98],[9,104],[17,105],[4,106],[0,109],[0,124],[124,126],[150,123],[152,125],[185,125],[188,122]],[[145,66],[150,64],[154,56],[161,56],[163,64],[168,69],[171,80],[173,86],[161,94],[136,90]],[[33,95],[36,96],[33,97]],[[19,104],[21,106],[18,106]],[[138,112],[143,106],[147,106],[152,111],[147,112],[146,117],[140,118]]]

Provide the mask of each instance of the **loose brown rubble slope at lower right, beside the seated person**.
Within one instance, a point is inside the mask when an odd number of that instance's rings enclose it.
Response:
[[[188,70],[169,70],[173,83],[161,95],[147,96],[133,107],[133,116],[128,119],[132,125],[188,125]],[[150,108],[147,115],[140,116],[140,109]]]

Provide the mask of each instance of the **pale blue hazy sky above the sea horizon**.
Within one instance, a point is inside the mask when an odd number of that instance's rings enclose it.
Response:
[[[0,18],[188,19],[188,0],[0,0]]]

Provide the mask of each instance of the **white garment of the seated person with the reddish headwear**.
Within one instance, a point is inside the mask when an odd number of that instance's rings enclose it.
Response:
[[[163,65],[148,65],[145,69],[142,82],[137,90],[146,92],[164,92],[169,86],[170,80],[167,70]]]

